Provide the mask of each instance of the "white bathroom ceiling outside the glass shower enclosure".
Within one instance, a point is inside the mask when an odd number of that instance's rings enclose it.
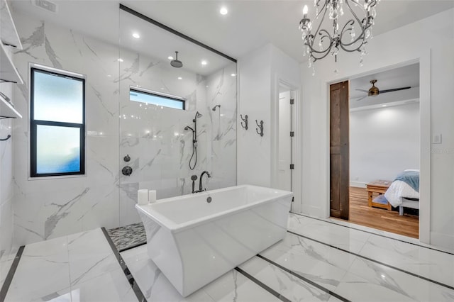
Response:
[[[311,10],[313,5],[313,1],[284,0],[50,1],[57,3],[57,13],[32,6],[31,1],[11,2],[14,12],[60,23],[111,43],[118,43],[118,3],[121,2],[231,57],[238,59],[272,43],[298,62],[304,61],[298,30],[302,7],[307,4]],[[218,13],[222,5],[228,8],[226,16]],[[454,0],[382,0],[377,5],[374,33],[379,35],[452,7]]]

